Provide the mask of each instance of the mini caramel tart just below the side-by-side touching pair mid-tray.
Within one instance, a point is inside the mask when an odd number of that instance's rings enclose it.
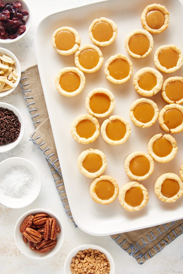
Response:
[[[106,156],[98,149],[89,148],[81,152],[77,160],[77,166],[85,177],[98,177],[106,170]]]

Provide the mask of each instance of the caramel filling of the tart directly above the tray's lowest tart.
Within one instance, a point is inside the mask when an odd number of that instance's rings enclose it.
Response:
[[[130,171],[135,176],[144,176],[146,175],[150,170],[150,162],[144,155],[138,155],[135,156],[130,161]]]

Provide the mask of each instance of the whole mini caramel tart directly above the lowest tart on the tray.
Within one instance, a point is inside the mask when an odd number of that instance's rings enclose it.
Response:
[[[154,161],[151,156],[142,151],[129,154],[125,160],[125,171],[132,180],[142,181],[153,173]]]

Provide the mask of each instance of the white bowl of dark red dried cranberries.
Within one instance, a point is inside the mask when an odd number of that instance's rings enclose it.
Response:
[[[0,43],[18,41],[30,25],[30,9],[25,1],[0,0]]]

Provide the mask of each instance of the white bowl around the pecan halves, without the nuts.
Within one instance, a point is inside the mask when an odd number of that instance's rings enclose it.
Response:
[[[20,226],[23,223],[23,221],[25,220],[25,218],[27,216],[29,216],[30,214],[35,215],[37,213],[41,213],[41,212],[45,212],[47,213],[50,217],[55,218],[55,220],[57,221],[57,225],[60,227],[61,232],[57,235],[56,239],[57,239],[57,244],[55,245],[55,247],[53,247],[53,249],[51,249],[50,251],[48,251],[47,253],[39,253],[36,252],[32,249],[30,249],[29,244],[25,244],[23,239],[22,239],[22,233],[20,233]],[[55,255],[59,249],[61,248],[63,241],[64,241],[64,228],[63,228],[63,224],[61,223],[60,219],[57,217],[57,215],[55,215],[53,212],[47,210],[47,209],[42,209],[42,208],[36,208],[36,209],[31,209],[27,212],[25,212],[17,221],[17,223],[15,224],[15,228],[14,228],[14,239],[15,239],[15,243],[18,247],[18,249],[27,257],[31,258],[31,259],[37,259],[37,260],[41,260],[41,259],[47,259],[53,255]]]

